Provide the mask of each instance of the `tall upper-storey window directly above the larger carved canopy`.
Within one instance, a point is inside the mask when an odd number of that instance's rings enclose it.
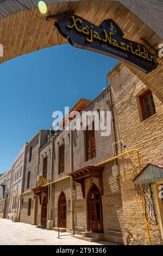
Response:
[[[96,157],[96,145],[95,145],[95,124],[92,123],[92,130],[88,130],[88,126],[85,131],[85,144],[86,144],[86,161]]]

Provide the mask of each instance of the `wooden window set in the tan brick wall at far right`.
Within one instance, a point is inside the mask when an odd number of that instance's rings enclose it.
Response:
[[[156,113],[153,94],[151,90],[147,90],[145,93],[141,94],[139,96],[139,100],[143,120],[151,117],[151,115],[154,115]]]

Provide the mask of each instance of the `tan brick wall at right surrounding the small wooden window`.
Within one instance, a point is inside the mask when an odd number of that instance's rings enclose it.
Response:
[[[122,139],[127,150],[139,149],[142,168],[149,162],[162,160],[163,106],[161,101],[153,95],[156,114],[142,121],[137,97],[147,89],[145,84],[122,63],[119,63],[108,74],[108,77],[113,99],[116,141]],[[118,143],[117,154],[124,151],[122,144]],[[135,184],[133,183],[135,175],[139,172],[137,158],[134,155],[122,157],[118,160],[118,166],[128,242],[135,245],[147,244],[143,208],[136,198]],[[154,204],[156,204],[155,201]],[[149,225],[149,228],[152,242],[161,244],[160,225]]]

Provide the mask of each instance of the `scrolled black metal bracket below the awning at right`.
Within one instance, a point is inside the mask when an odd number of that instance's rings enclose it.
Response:
[[[152,190],[150,184],[135,184],[136,191],[146,202],[145,216],[149,224],[157,225],[156,214],[153,205]]]

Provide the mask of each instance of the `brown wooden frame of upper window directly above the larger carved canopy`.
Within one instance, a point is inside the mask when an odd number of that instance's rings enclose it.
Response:
[[[93,147],[93,137],[95,140],[95,123],[92,122],[92,130],[88,129],[88,125],[86,127],[85,131],[85,156],[86,156],[86,162],[96,157],[96,142],[94,142],[95,147]],[[89,147],[89,139],[90,139],[90,150]],[[89,158],[89,151],[90,151],[90,158]],[[94,152],[94,155],[93,155]]]

